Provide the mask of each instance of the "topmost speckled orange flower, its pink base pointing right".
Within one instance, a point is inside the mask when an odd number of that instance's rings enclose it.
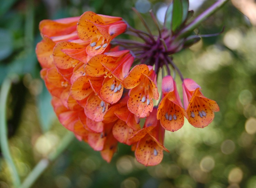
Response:
[[[77,23],[77,34],[81,40],[90,40],[86,52],[95,56],[106,50],[110,41],[126,30],[120,17],[105,16],[91,11],[84,12]]]

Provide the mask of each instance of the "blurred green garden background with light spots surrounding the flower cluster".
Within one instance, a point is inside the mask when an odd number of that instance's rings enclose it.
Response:
[[[195,16],[212,0],[191,0]],[[80,16],[84,11],[124,18],[144,29],[136,7],[150,19],[153,9],[159,22],[164,6],[158,0],[1,0],[0,84],[12,77],[7,119],[9,146],[21,180],[43,158],[65,145],[67,130],[56,119],[35,55],[43,19]],[[243,12],[243,13],[242,13]],[[185,121],[182,129],[167,132],[161,164],[140,165],[130,147],[119,144],[108,164],[88,144],[73,139],[53,158],[33,188],[256,188],[256,3],[232,0],[199,27],[203,38],[174,55],[184,77],[194,79],[220,111],[203,129]],[[247,16],[244,16],[244,14]],[[194,16],[194,17],[195,17]],[[127,37],[123,35],[122,37]],[[181,82],[176,79],[181,91]],[[181,93],[181,92],[180,92]],[[68,137],[67,139],[70,139]],[[11,188],[9,168],[0,157],[0,187]]]

